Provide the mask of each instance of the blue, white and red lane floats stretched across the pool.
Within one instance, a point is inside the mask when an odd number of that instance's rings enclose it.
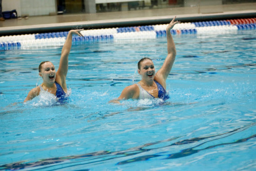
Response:
[[[83,30],[84,37],[73,36],[73,41],[153,39],[166,36],[168,24]],[[238,30],[256,29],[256,18],[217,20],[176,24],[172,34],[226,34]],[[0,50],[63,46],[68,32],[37,33],[0,37]]]

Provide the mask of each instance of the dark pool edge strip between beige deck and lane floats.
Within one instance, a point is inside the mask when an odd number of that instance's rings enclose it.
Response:
[[[223,13],[207,13],[207,14],[183,14],[177,15],[177,19],[181,22],[197,22],[205,20],[216,19],[236,19],[244,17],[255,17],[256,10],[245,11],[231,11]],[[173,18],[174,15],[168,16],[154,16],[154,17],[137,17],[137,18],[122,18],[122,19],[106,19],[106,20],[93,20],[84,22],[67,22],[67,23],[54,23],[54,24],[41,24],[30,26],[15,26],[15,27],[1,27],[1,35],[12,34],[26,34],[26,33],[40,33],[52,31],[64,31],[75,29],[77,27],[84,29],[96,28],[111,28],[111,27],[124,27],[135,25],[153,25],[153,24],[166,24]]]

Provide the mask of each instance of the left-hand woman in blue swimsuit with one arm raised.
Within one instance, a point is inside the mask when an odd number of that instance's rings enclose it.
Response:
[[[40,91],[47,91],[51,94],[54,94],[59,100],[65,98],[68,91],[66,76],[68,73],[69,53],[72,46],[72,35],[77,34],[79,36],[83,36],[80,33],[82,30],[83,29],[69,31],[65,44],[62,47],[59,68],[57,72],[52,62],[43,61],[40,63],[38,70],[39,76],[42,77],[43,82],[36,88],[30,90],[24,102],[38,96]]]

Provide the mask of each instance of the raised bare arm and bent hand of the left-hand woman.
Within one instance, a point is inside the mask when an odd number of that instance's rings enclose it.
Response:
[[[66,76],[68,73],[68,67],[69,67],[69,53],[72,47],[72,35],[77,34],[79,36],[83,36],[80,32],[83,29],[79,30],[70,30],[67,36],[67,39],[65,41],[65,44],[62,47],[61,50],[61,56],[59,61],[59,68],[56,73],[56,81],[61,85],[63,89],[67,89],[66,87]]]

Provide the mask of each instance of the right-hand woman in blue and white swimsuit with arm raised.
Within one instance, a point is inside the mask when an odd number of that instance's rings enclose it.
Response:
[[[166,79],[173,67],[173,63],[176,56],[176,48],[170,30],[180,23],[175,22],[176,16],[172,22],[166,28],[167,36],[167,57],[164,60],[163,66],[156,73],[154,63],[150,58],[142,58],[138,62],[138,73],[141,75],[141,80],[123,89],[121,95],[110,102],[119,103],[119,100],[125,99],[153,99],[161,98],[163,100],[168,99],[166,93]]]

